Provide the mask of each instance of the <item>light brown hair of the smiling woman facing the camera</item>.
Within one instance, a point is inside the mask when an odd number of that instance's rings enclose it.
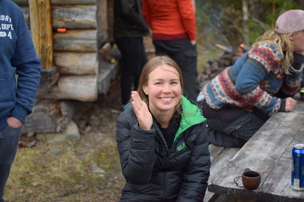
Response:
[[[165,64],[169,65],[171,67],[174,67],[174,69],[177,70],[178,75],[179,75],[180,84],[181,84],[181,89],[183,89],[184,82],[183,82],[183,77],[182,77],[182,74],[181,74],[181,69],[179,68],[178,64],[171,57],[169,57],[167,55],[154,56],[153,58],[148,60],[146,65],[143,67],[143,70],[140,74],[139,84],[138,84],[138,87],[137,87],[137,92],[138,92],[140,98],[147,103],[148,107],[149,107],[149,97],[143,91],[143,86],[148,85],[148,80],[149,80],[150,73],[156,67],[159,67],[159,66],[165,65]],[[132,101],[132,98],[129,102],[131,102],[131,101]],[[178,104],[175,106],[175,111],[178,111],[180,106],[181,106],[181,99],[179,100]]]

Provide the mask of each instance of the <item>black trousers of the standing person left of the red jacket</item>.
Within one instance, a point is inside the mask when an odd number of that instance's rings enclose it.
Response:
[[[137,89],[141,70],[148,59],[142,37],[116,38],[115,42],[121,53],[121,95],[122,105],[126,105],[131,91]],[[131,89],[133,84],[134,89]]]

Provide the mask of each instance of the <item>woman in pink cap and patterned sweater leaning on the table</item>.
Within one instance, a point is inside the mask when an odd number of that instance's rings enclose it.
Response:
[[[304,11],[282,13],[233,66],[204,85],[197,100],[209,142],[242,147],[276,112],[292,111],[304,68]]]

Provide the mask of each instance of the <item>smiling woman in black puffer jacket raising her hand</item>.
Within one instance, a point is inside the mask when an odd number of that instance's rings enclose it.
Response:
[[[182,94],[178,65],[155,56],[116,122],[126,186],[120,201],[202,201],[209,178],[206,118]],[[140,193],[140,194],[138,194]]]

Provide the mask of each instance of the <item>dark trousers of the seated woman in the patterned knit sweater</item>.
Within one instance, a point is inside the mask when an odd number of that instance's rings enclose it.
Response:
[[[250,111],[229,106],[215,110],[206,101],[202,111],[207,118],[209,143],[224,147],[242,147],[269,118],[255,107]]]

